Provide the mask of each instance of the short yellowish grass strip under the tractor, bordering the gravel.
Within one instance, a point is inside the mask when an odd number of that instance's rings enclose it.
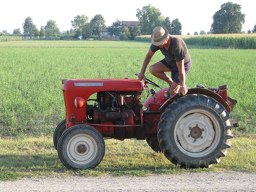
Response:
[[[107,174],[149,176],[224,170],[255,172],[256,168],[256,140],[253,138],[234,138],[227,156],[208,169],[181,169],[170,163],[162,153],[155,153],[144,140],[111,139],[105,140],[105,143],[105,156],[96,168],[68,170],[60,162],[51,137],[0,139],[0,180]]]

